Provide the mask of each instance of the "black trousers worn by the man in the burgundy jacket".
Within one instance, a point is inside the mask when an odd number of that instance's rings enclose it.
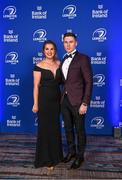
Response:
[[[78,106],[72,106],[65,94],[61,105],[68,152],[83,157],[86,145],[85,115],[80,115]]]

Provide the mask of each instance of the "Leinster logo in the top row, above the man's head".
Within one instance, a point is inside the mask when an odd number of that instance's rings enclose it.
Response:
[[[75,12],[76,12],[76,6],[72,4],[68,5],[63,9],[62,17],[73,19],[77,16]]]

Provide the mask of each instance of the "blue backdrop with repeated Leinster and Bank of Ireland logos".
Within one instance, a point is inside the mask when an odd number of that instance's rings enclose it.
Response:
[[[65,32],[74,32],[78,50],[91,57],[87,134],[111,135],[122,125],[121,10],[121,0],[0,1],[0,132],[36,133],[33,67],[47,39],[62,59]]]

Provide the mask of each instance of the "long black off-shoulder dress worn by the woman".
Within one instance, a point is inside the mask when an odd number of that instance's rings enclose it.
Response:
[[[55,166],[63,158],[60,129],[60,68],[56,75],[38,67],[41,72],[38,98],[38,132],[36,143],[35,167]]]

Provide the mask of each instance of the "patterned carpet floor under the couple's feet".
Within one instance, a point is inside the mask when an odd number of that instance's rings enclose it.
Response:
[[[82,166],[67,170],[72,162],[60,163],[54,171],[34,168],[35,142],[34,135],[0,135],[0,179],[122,179],[122,139],[88,136]]]

